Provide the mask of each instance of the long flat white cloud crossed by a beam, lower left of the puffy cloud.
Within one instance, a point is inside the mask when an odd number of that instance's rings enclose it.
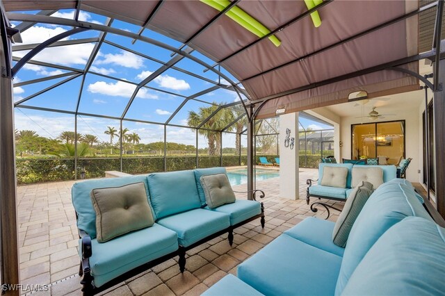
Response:
[[[125,83],[123,81],[117,81],[115,83],[107,83],[105,81],[97,81],[88,85],[88,92],[93,94],[106,94],[112,97],[131,97],[136,85]],[[156,94],[149,93],[146,88],[141,88],[136,95],[141,99],[157,99]]]

